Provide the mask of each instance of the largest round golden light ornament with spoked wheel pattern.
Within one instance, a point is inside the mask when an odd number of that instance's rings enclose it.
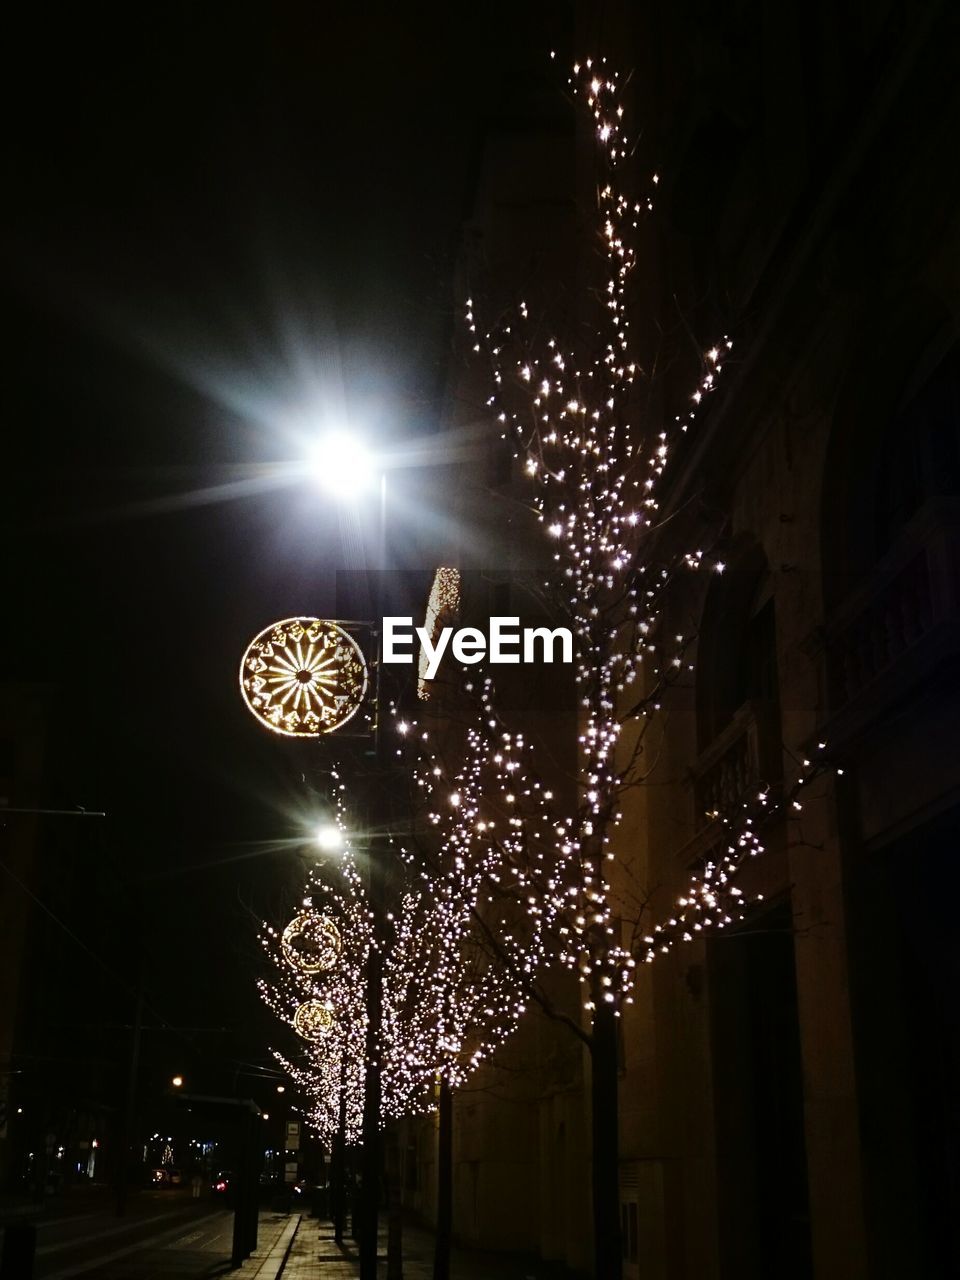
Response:
[[[243,654],[239,681],[260,723],[287,737],[343,728],[369,682],[357,641],[323,618],[284,618],[265,627]]]

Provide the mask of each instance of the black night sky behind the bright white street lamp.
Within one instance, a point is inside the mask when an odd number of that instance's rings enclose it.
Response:
[[[64,5],[6,32],[4,678],[49,687],[46,795],[108,810],[84,856],[141,884],[152,998],[187,1023],[248,1009],[237,900],[291,863],[244,855],[303,810],[239,654],[330,609],[357,545],[305,485],[196,495],[330,422],[434,429],[484,127],[566,14]]]

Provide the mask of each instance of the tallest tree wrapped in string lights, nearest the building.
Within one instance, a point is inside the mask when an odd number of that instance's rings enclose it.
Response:
[[[527,506],[550,547],[553,570],[539,575],[536,594],[552,625],[568,627],[575,640],[576,785],[548,783],[538,744],[507,722],[489,681],[475,673],[466,686],[474,727],[460,759],[444,760],[429,735],[412,740],[425,808],[435,824],[458,826],[445,845],[483,882],[474,936],[490,969],[504,989],[539,1001],[589,1050],[595,1274],[611,1280],[621,1274],[617,1019],[632,1000],[636,969],[704,929],[744,919],[737,873],[762,852],[771,814],[799,808],[797,791],[819,759],[804,762],[786,794],[763,791],[735,813],[713,814],[714,851],[671,914],[652,924],[646,893],[631,886],[630,863],[617,855],[616,832],[626,794],[648,778],[664,704],[692,669],[695,625],[678,628],[671,604],[685,580],[724,567],[710,552],[718,530],[692,517],[667,522],[662,504],[671,454],[714,390],[731,343],[703,355],[681,415],[664,422],[650,410],[631,311],[637,225],[653,207],[657,175],[639,183],[641,193],[621,183],[637,178],[617,76],[586,61],[573,68],[571,86],[588,111],[600,168],[602,251],[581,312],[567,334],[550,333],[549,317],[531,317],[524,301],[490,328],[468,301],[466,321],[489,370],[490,419],[526,477]],[[522,922],[508,902],[522,908]],[[558,964],[579,977],[580,1011],[548,997],[543,978]]]

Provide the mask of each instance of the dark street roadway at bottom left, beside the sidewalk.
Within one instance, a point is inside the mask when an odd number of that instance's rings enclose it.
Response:
[[[261,1215],[261,1248],[283,1221]],[[189,1192],[143,1192],[124,1217],[106,1198],[65,1202],[37,1221],[35,1280],[206,1280],[229,1271],[232,1240],[233,1213]]]

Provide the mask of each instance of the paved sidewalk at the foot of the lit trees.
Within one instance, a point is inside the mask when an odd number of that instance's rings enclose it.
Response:
[[[387,1275],[387,1234],[380,1233],[380,1275]],[[403,1280],[431,1280],[434,1238],[422,1228],[403,1228]],[[293,1238],[280,1280],[356,1280],[360,1271],[357,1247],[346,1239],[340,1248],[333,1225],[325,1219],[303,1217]],[[452,1280],[575,1280],[573,1272],[556,1263],[525,1261],[506,1253],[454,1248]]]

